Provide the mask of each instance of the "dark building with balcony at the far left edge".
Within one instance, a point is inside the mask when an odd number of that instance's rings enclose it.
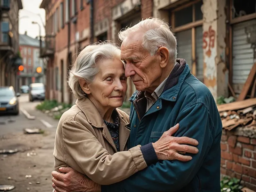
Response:
[[[22,65],[19,54],[19,9],[21,0],[0,1],[0,86],[18,90],[17,72]]]

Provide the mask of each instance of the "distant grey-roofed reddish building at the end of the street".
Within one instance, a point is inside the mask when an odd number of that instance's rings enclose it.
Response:
[[[24,70],[19,74],[19,84],[44,83],[43,59],[40,56],[40,41],[25,34],[19,34],[19,49],[23,59]],[[42,71],[37,72],[37,67]]]

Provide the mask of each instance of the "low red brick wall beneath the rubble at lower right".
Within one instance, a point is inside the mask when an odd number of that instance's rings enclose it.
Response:
[[[221,174],[242,179],[256,191],[256,139],[223,131],[221,140]]]

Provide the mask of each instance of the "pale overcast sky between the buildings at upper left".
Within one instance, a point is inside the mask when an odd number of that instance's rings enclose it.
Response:
[[[19,33],[27,35],[32,38],[39,36],[39,26],[41,26],[41,35],[45,35],[45,10],[40,9],[42,0],[22,0],[23,9],[19,10]],[[42,21],[40,19],[42,18]],[[32,24],[35,21],[38,24]]]

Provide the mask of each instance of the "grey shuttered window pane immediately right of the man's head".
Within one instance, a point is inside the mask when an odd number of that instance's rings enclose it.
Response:
[[[185,59],[187,64],[192,69],[192,40],[191,29],[176,33],[177,37],[177,58]]]

